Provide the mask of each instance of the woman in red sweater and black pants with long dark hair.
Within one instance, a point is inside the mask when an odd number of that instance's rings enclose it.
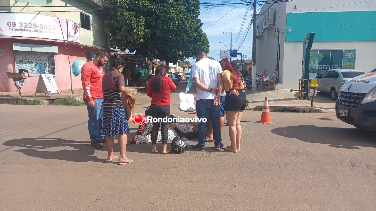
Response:
[[[147,88],[147,96],[152,98],[152,105],[150,106],[150,114],[153,118],[169,118],[170,117],[170,91],[176,91],[176,85],[170,77],[166,76],[167,67],[159,65],[155,69],[155,75],[150,79]],[[168,137],[168,122],[153,122],[152,128],[152,149],[151,152],[156,151],[156,143],[159,127],[162,133],[162,154],[170,153],[167,149]]]

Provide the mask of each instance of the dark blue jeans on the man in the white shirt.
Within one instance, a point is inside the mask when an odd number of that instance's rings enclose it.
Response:
[[[214,99],[198,99],[196,100],[197,118],[206,118],[209,113],[213,127],[213,138],[215,147],[219,147],[222,143],[221,128],[219,125],[219,105],[214,105]],[[206,122],[199,122],[199,138],[197,142],[200,148],[205,149],[205,137],[206,137]]]

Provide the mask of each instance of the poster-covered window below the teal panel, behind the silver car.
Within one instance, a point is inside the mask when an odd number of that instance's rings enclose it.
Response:
[[[309,77],[314,78],[329,69],[354,69],[356,50],[311,50]]]

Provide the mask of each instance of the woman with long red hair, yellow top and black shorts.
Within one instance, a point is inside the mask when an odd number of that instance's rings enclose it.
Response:
[[[240,72],[233,69],[231,63],[227,59],[221,60],[220,63],[223,69],[223,88],[226,91],[226,104],[224,105],[224,110],[229,124],[231,142],[231,145],[224,148],[224,151],[237,152],[240,150],[240,120],[243,111],[246,109],[246,93],[243,92],[244,86]]]

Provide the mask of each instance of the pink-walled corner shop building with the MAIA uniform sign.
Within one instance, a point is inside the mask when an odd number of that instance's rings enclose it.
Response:
[[[75,13],[59,13],[63,1],[36,1],[42,5],[26,5],[5,0],[9,13],[0,13],[0,92],[18,92],[5,72],[29,72],[21,92],[35,92],[39,74],[52,74],[59,90],[71,89],[70,67],[76,60],[91,60],[100,49],[107,49],[108,33],[103,32],[107,14],[92,11],[103,8],[97,0],[74,1]],[[89,5],[88,5],[88,2]],[[7,5],[8,3],[8,5]],[[12,3],[12,4],[10,4]],[[65,4],[65,3],[64,3]],[[13,6],[12,6],[13,5]],[[22,9],[20,6],[25,6]],[[38,8],[51,6],[51,13],[37,14]],[[80,6],[80,7],[79,7]],[[83,6],[87,6],[85,8]],[[17,13],[14,13],[17,12]],[[81,86],[81,75],[73,75],[73,88]]]

